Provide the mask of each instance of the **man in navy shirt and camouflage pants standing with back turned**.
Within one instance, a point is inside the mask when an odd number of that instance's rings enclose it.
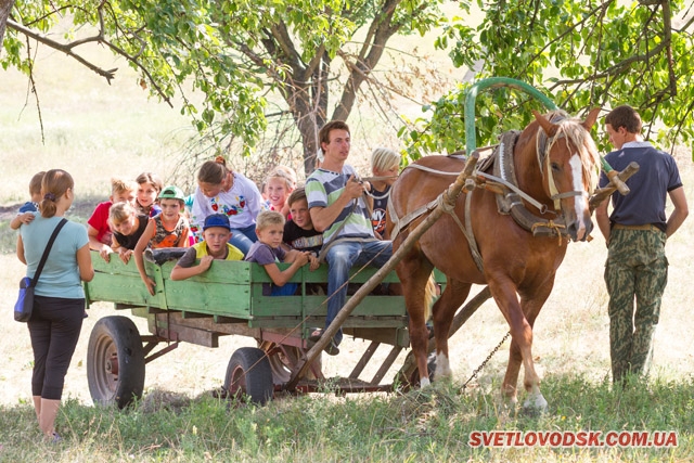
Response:
[[[595,210],[608,248],[605,283],[609,293],[613,383],[625,385],[628,374],[647,373],[667,284],[665,243],[689,210],[674,158],[643,141],[639,113],[628,105],[618,106],[605,117],[605,127],[615,147],[605,160],[615,170],[622,170],[631,162],[640,166],[627,180],[630,193],[612,195],[612,214],[607,216],[608,201]],[[608,182],[603,175],[600,185]],[[666,220],[667,196],[674,208]]]

